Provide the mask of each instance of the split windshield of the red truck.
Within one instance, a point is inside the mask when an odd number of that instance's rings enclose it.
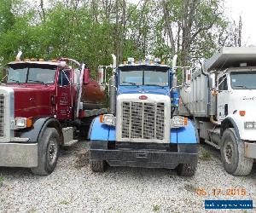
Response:
[[[9,65],[7,83],[55,83],[56,66],[38,64]]]

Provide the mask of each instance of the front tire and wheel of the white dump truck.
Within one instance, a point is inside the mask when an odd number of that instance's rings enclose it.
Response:
[[[224,169],[233,176],[247,176],[253,168],[253,158],[245,157],[244,142],[236,136],[234,128],[224,130],[220,146]]]

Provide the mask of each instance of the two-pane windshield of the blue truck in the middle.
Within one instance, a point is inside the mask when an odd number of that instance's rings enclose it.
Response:
[[[168,86],[166,66],[124,66],[119,67],[119,85],[159,85]]]

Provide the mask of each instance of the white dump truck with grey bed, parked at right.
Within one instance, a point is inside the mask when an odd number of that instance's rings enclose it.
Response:
[[[220,149],[228,173],[247,176],[256,158],[256,48],[224,47],[186,79],[179,114]]]

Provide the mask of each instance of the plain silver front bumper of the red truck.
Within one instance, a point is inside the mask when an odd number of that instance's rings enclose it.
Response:
[[[38,166],[38,144],[0,143],[0,166]]]

